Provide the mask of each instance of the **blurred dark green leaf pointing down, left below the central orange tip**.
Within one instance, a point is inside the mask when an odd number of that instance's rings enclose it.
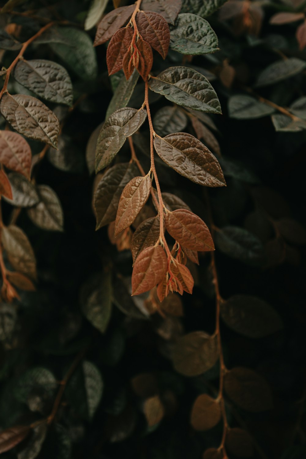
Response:
[[[101,278],[99,289],[92,291],[82,305],[85,317],[101,333],[105,333],[111,319],[111,298],[111,274],[105,273]]]

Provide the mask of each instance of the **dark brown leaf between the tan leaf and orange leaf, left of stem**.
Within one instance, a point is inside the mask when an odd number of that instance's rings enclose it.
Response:
[[[160,219],[151,217],[142,222],[134,232],[132,239],[133,261],[146,247],[154,246],[159,239]]]

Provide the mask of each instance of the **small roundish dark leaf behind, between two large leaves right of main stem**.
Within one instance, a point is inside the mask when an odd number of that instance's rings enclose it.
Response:
[[[166,106],[158,110],[153,118],[153,126],[158,135],[164,136],[179,132],[187,126],[187,117],[176,106]]]

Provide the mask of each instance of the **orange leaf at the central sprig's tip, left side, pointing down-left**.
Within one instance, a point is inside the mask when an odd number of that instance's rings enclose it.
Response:
[[[161,246],[148,247],[136,258],[132,274],[132,295],[151,290],[167,272],[168,261]]]

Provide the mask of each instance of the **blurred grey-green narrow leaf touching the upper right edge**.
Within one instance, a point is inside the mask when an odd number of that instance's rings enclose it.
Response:
[[[296,57],[289,57],[283,61],[273,62],[260,73],[256,86],[267,86],[283,81],[300,73],[306,67],[306,62]]]

